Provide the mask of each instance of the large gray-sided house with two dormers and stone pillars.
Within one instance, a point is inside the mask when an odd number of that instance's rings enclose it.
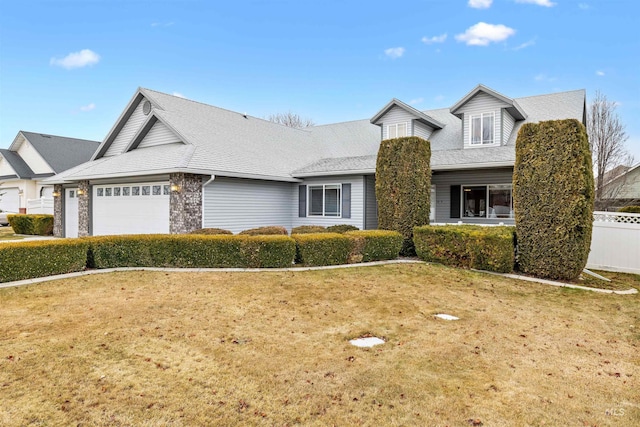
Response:
[[[293,129],[140,88],[89,162],[55,184],[54,234],[239,232],[280,225],[377,227],[382,139],[432,147],[432,221],[513,223],[523,123],[585,123],[585,91],[509,98],[478,85],[450,108],[391,100],[369,120]]]

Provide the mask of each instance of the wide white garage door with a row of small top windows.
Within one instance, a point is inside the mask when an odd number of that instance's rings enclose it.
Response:
[[[93,187],[93,235],[169,233],[169,183]]]

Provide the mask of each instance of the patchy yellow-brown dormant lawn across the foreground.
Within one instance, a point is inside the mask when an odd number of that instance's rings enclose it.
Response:
[[[640,424],[637,295],[412,264],[101,274],[0,306],[1,425]]]

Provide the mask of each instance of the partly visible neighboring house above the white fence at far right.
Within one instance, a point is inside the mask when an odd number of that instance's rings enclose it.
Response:
[[[640,163],[633,167],[618,166],[605,174],[599,209],[618,210],[640,205]]]

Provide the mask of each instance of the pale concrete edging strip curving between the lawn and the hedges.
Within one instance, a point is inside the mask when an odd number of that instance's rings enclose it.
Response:
[[[32,285],[42,282],[50,282],[53,280],[71,279],[74,277],[88,276],[91,274],[104,274],[115,273],[120,271],[162,271],[170,273],[219,273],[219,272],[237,272],[237,273],[257,273],[257,272],[282,272],[282,271],[315,271],[315,270],[335,270],[339,268],[358,268],[358,267],[371,267],[375,265],[388,265],[388,264],[419,264],[424,261],[413,259],[397,259],[391,261],[375,261],[365,262],[359,264],[345,264],[345,265],[331,265],[326,267],[291,267],[291,268],[160,268],[160,267],[119,267],[119,268],[105,268],[102,270],[86,270],[76,273],[58,274],[55,276],[38,277],[35,279],[18,280],[15,282],[0,283],[1,288],[11,288],[15,286]],[[428,264],[428,263],[427,263]],[[614,291],[611,289],[590,288],[587,286],[573,285],[570,283],[554,282],[552,280],[537,279],[535,277],[520,276],[517,274],[504,274],[494,273],[484,270],[471,270],[477,273],[492,274],[496,276],[507,277],[510,279],[526,280],[529,282],[542,283],[545,285],[559,286],[564,288],[580,289],[584,291],[600,292],[605,294],[617,294],[617,295],[633,295],[637,294],[637,289],[628,289],[626,291]]]

